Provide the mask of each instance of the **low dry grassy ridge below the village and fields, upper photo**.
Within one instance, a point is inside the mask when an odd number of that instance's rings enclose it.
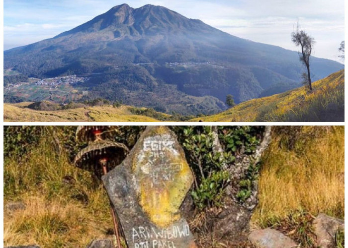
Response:
[[[5,122],[159,122],[145,115],[136,115],[135,108],[121,106],[95,106],[58,111],[40,111],[25,108],[30,103],[4,104],[3,119]],[[140,108],[144,109],[145,108]],[[134,111],[133,111],[134,112]],[[157,113],[157,112],[155,112]],[[169,115],[158,113],[159,118]],[[161,118],[161,119],[162,119]]]

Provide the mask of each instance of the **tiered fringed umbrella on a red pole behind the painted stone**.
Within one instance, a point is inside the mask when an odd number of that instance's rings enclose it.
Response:
[[[75,165],[94,173],[98,179],[119,165],[129,152],[124,144],[107,139],[112,128],[115,126],[79,126],[76,131],[76,139],[87,141],[88,146],[76,155]],[[118,221],[112,206],[110,209],[117,246],[121,248]]]

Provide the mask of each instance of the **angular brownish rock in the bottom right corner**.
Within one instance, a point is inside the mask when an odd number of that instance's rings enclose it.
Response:
[[[336,232],[345,230],[345,222],[326,214],[319,214],[313,222],[313,228],[318,247],[329,248],[334,247]]]

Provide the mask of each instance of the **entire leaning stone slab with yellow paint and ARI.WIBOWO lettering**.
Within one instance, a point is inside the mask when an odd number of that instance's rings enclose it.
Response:
[[[148,126],[102,181],[129,248],[196,248],[179,210],[193,175],[168,127]]]

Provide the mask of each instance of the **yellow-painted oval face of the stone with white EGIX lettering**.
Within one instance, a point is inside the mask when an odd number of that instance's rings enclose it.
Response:
[[[132,161],[138,201],[159,227],[180,219],[179,207],[193,182],[182,148],[166,126],[144,137]]]

